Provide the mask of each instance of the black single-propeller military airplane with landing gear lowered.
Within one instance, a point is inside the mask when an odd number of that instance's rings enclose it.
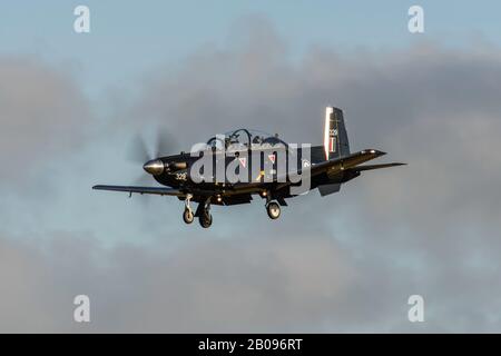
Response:
[[[328,196],[340,191],[342,184],[358,177],[363,171],[405,165],[363,165],[385,152],[364,149],[352,154],[343,111],[336,107],[325,110],[323,145],[298,148],[284,142],[276,134],[237,129],[212,137],[200,147],[191,148],[190,152],[155,157],[144,164],[144,170],[161,187],[97,185],[92,189],[124,191],[129,197],[132,194],[177,197],[185,202],[184,221],[191,224],[197,217],[200,226],[208,228],[213,224],[212,205],[248,204],[253,196],[259,196],[266,200],[268,217],[277,219],[281,207],[287,206],[285,199],[313,189],[318,189],[322,197]],[[207,158],[206,162],[209,164],[202,167],[198,164],[202,157]],[[282,165],[286,167],[285,172],[284,169],[277,169],[281,165],[278,157],[285,157],[285,166]],[[197,165],[202,168],[195,169]],[[220,178],[214,174],[220,168],[223,172],[233,170],[247,179]],[[306,189],[294,191],[306,178]],[[193,201],[198,202],[195,211]]]

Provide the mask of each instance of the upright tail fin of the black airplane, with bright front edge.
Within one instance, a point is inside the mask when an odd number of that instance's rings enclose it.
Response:
[[[326,159],[350,155],[343,110],[338,108],[327,107],[325,109],[324,150]]]

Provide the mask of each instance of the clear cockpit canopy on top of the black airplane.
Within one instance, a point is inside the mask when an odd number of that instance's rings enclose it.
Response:
[[[213,149],[257,149],[275,145],[287,145],[277,135],[269,135],[258,130],[237,129],[224,135],[216,135],[207,141],[207,146]]]

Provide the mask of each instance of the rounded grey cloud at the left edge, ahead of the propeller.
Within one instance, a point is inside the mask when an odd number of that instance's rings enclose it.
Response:
[[[82,144],[89,107],[69,73],[28,57],[0,57],[0,178],[22,180],[47,157]]]

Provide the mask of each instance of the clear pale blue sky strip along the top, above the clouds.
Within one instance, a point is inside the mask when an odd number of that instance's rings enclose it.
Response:
[[[91,33],[72,30],[76,6],[91,11]],[[420,4],[425,33],[406,31]],[[225,46],[249,16],[264,16],[292,58],[311,46],[392,49],[423,39],[463,46],[500,42],[497,1],[20,1],[0,4],[0,52],[37,55],[72,70],[89,93],[127,83],[159,63],[178,66],[202,46]]]

